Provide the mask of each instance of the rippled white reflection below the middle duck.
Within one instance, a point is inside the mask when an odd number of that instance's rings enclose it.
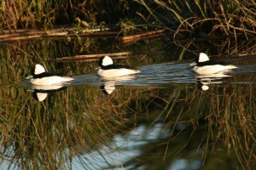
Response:
[[[119,83],[131,81],[135,79],[135,75],[125,76],[125,77],[112,77],[112,78],[106,78],[106,77],[100,77],[100,82],[102,82],[102,93],[109,95],[112,94],[115,90],[115,86],[119,85]]]

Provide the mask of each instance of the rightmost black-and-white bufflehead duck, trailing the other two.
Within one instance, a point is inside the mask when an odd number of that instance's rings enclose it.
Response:
[[[209,60],[207,54],[204,53],[201,53],[199,57],[195,59],[195,62],[190,65],[194,66],[193,71],[201,75],[214,74],[219,71],[226,71],[237,68],[235,65],[228,65],[224,62]]]

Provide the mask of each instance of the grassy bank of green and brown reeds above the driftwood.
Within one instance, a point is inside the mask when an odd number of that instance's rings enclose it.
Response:
[[[5,0],[0,4],[0,29],[113,26],[129,33],[165,28],[174,37],[248,38],[255,35],[254,7],[253,0]]]

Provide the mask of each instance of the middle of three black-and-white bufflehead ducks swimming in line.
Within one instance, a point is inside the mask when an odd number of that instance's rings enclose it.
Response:
[[[141,71],[139,70],[132,70],[129,66],[127,65],[114,65],[113,60],[105,56],[102,59],[99,59],[99,66],[100,69],[98,71],[98,75],[101,77],[123,77],[127,75],[133,75],[140,73]]]

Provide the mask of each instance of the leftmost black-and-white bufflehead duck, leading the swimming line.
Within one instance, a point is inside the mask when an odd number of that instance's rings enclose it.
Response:
[[[46,72],[44,66],[38,64],[32,68],[31,75],[26,79],[30,79],[30,82],[35,85],[52,85],[73,80],[71,77],[61,77],[58,74]]]

